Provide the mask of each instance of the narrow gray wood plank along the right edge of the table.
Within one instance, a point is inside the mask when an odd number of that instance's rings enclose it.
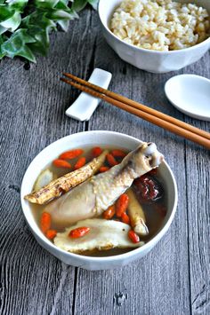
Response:
[[[189,73],[204,75],[210,79],[210,53],[197,66],[189,67]],[[185,116],[185,122],[196,123],[198,128],[210,131],[210,123]],[[187,203],[190,253],[190,295],[192,314],[210,313],[210,155],[198,146],[186,147]]]

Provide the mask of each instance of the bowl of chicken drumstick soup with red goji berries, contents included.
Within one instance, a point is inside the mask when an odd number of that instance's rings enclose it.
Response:
[[[31,161],[21,206],[37,242],[53,256],[87,270],[113,269],[145,256],[163,237],[177,186],[154,144],[85,131],[53,142]]]

